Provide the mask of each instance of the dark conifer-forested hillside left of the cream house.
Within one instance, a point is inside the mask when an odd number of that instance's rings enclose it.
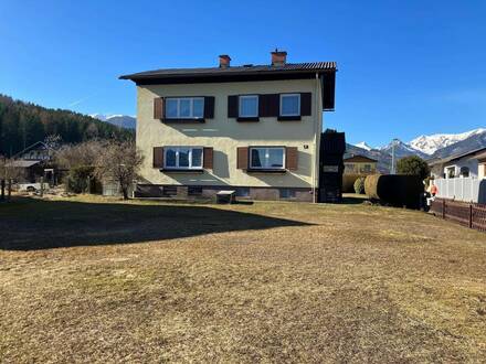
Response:
[[[12,156],[50,135],[59,135],[65,143],[93,138],[123,140],[135,136],[133,130],[83,114],[47,109],[0,94],[0,154]]]

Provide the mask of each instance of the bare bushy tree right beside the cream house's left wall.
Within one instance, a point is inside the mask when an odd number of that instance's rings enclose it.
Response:
[[[142,161],[135,142],[110,141],[99,154],[96,174],[101,180],[118,182],[124,200],[128,200],[128,189],[137,178]]]

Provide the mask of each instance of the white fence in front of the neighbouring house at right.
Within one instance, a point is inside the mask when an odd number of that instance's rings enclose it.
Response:
[[[486,180],[478,180],[474,178],[457,178],[439,179],[434,182],[439,190],[437,197],[476,203],[485,202],[486,191],[484,191],[484,185],[486,183]]]

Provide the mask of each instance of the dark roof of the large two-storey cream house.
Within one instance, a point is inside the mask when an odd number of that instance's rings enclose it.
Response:
[[[230,67],[203,68],[161,68],[124,75],[122,79],[149,79],[170,77],[232,76],[232,75],[270,75],[283,73],[309,73],[336,71],[336,62],[287,63],[285,65],[243,65]]]

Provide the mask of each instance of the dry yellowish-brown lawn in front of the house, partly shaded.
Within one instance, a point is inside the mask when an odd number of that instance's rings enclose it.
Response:
[[[0,362],[483,362],[486,234],[367,205],[0,205]]]

